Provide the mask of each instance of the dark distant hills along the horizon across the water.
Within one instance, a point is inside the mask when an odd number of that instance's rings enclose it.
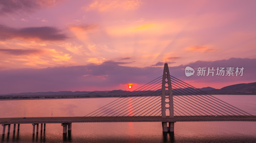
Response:
[[[159,89],[161,90],[161,89]],[[179,89],[174,89],[174,91],[178,91]],[[212,87],[204,87],[200,90],[208,93],[208,94],[231,94],[231,95],[243,95],[250,94],[256,95],[256,82],[252,83],[241,83],[234,84],[230,86],[223,87],[221,89],[214,89]],[[1,95],[2,97],[45,97],[45,98],[53,98],[53,97],[116,97],[122,96],[130,93],[130,91],[126,90],[111,90],[111,91],[59,91],[59,92],[26,92],[26,93],[12,93],[7,95]]]

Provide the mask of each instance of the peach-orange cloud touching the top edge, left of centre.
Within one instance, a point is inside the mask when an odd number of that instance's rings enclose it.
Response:
[[[106,12],[113,9],[135,10],[142,2],[140,0],[95,0],[91,4],[84,6],[85,11],[97,10]]]

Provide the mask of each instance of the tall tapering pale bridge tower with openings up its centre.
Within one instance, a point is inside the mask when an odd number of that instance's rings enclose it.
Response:
[[[166,118],[166,109],[169,111],[169,118],[173,118],[173,96],[172,83],[168,64],[164,64],[164,73],[162,81],[162,118]],[[168,118],[168,116],[167,116]],[[163,132],[174,132],[174,122],[162,122]]]

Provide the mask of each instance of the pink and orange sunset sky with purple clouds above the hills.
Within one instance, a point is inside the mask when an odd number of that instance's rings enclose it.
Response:
[[[255,0],[1,0],[0,94],[256,82]],[[186,77],[186,66],[244,67]],[[134,87],[128,88],[132,83]]]

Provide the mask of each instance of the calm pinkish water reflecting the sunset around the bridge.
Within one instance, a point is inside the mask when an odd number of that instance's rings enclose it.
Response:
[[[256,115],[255,95],[216,95],[246,112]],[[84,116],[116,98],[45,99],[0,101],[0,117]],[[17,125],[16,125],[17,126]],[[160,122],[72,123],[72,131],[62,134],[60,124],[46,124],[46,131],[32,135],[31,124],[1,136],[1,142],[252,142],[256,143],[256,122],[177,122],[174,134],[163,133]],[[39,126],[40,128],[40,126]],[[3,126],[0,126],[2,133]]]

